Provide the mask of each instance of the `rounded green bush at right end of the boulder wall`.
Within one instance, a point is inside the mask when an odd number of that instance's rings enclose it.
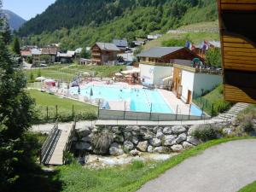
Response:
[[[221,129],[215,125],[202,125],[195,131],[192,136],[201,139],[203,142],[207,142],[212,139],[217,139],[220,135]]]

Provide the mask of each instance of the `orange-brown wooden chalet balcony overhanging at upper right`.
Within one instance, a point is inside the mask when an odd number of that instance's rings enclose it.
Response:
[[[256,0],[218,0],[224,98],[256,103]]]

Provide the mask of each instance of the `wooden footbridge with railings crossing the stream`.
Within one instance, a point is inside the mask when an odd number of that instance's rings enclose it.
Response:
[[[61,166],[66,163],[65,154],[70,150],[76,122],[73,125],[59,125],[56,121],[49,132],[40,153],[40,163],[47,166]]]

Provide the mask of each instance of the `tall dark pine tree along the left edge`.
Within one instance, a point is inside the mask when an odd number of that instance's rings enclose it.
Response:
[[[0,190],[26,191],[20,188],[20,183],[37,168],[34,162],[37,141],[27,134],[32,123],[33,100],[26,94],[25,75],[15,68],[3,34],[0,34]]]

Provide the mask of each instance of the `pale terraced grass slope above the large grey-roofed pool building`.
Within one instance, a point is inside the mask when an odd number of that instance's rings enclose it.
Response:
[[[143,46],[143,49],[150,49],[152,47],[161,46],[163,41],[177,38],[189,38],[194,44],[200,44],[202,40],[219,40],[218,32],[193,32],[201,31],[206,29],[216,29],[218,27],[217,21],[212,22],[202,22],[197,24],[192,24],[189,26],[181,26],[180,30],[191,31],[186,33],[166,33],[161,38],[148,42],[148,44]]]

